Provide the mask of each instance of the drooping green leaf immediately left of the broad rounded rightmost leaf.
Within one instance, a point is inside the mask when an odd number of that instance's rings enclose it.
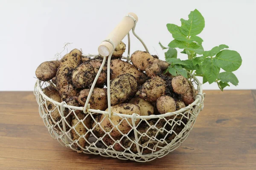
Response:
[[[220,68],[214,65],[212,59],[206,58],[204,59],[204,62],[202,65],[202,71],[205,78],[208,80],[209,84],[212,84],[218,78]]]

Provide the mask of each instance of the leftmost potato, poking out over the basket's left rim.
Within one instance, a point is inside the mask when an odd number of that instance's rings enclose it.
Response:
[[[59,61],[42,62],[35,71],[35,75],[41,81],[49,81],[55,77]]]

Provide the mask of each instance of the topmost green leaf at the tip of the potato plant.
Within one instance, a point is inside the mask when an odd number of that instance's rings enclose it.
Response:
[[[204,17],[197,9],[190,12],[189,20],[180,19],[180,21],[180,30],[186,36],[198,35],[204,29]]]

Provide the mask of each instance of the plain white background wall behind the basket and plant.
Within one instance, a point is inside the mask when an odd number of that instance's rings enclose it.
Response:
[[[234,72],[239,85],[227,89],[255,89],[255,0],[0,0],[0,91],[32,91],[37,66],[54,59],[65,42],[72,42],[69,51],[82,48],[84,54],[96,54],[128,12],[138,15],[136,32],[149,52],[164,59],[158,42],[167,46],[172,40],[166,23],[180,25],[180,18],[187,19],[195,8],[205,18],[199,35],[204,49],[226,44],[243,59]],[[131,52],[143,50],[131,37]],[[214,83],[203,88],[218,89]]]

